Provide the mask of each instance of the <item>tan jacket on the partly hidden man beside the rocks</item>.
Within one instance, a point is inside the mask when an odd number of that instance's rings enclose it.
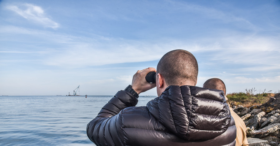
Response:
[[[226,100],[228,100],[225,97]],[[230,106],[230,105],[229,105]],[[235,146],[249,146],[248,141],[247,141],[247,137],[246,137],[246,130],[247,127],[244,123],[244,121],[240,118],[240,116],[238,116],[230,107],[230,114],[233,117],[234,121],[235,121],[235,126],[236,126],[236,143]]]

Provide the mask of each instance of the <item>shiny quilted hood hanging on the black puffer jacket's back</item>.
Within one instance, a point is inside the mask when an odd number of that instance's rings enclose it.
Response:
[[[171,85],[147,103],[149,112],[182,139],[208,140],[230,125],[230,110],[223,91]]]

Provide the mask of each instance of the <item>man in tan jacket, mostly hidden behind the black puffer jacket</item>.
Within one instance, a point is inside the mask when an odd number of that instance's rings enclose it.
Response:
[[[222,90],[224,94],[226,94],[226,89],[225,89],[225,83],[218,78],[212,78],[209,80],[206,80],[206,82],[203,84],[203,88],[209,88],[209,89],[217,89],[217,90]],[[226,97],[225,97],[226,98]],[[228,100],[226,98],[226,100]],[[235,125],[236,125],[236,146],[248,146],[248,141],[246,137],[246,125],[244,121],[232,110],[230,107],[230,113],[231,116],[234,118]]]

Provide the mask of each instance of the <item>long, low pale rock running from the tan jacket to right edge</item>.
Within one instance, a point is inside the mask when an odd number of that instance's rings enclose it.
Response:
[[[280,123],[275,123],[273,125],[268,125],[260,130],[249,131],[248,135],[250,135],[250,137],[263,138],[267,135],[279,135],[279,130]]]

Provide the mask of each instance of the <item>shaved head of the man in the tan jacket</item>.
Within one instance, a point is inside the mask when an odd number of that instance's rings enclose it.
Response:
[[[203,84],[203,88],[223,90],[224,94],[226,92],[225,83],[221,79],[218,79],[218,78],[212,78],[212,79],[206,80],[206,82]]]

